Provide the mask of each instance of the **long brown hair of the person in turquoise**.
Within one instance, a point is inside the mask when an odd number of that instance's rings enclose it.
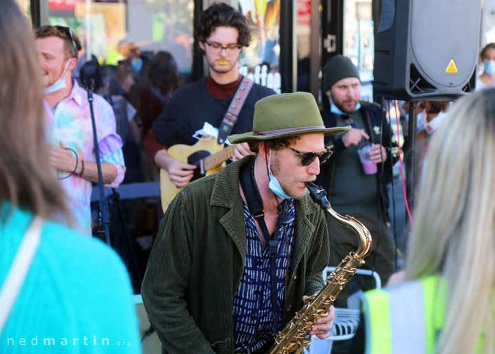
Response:
[[[0,1],[0,207],[10,202],[44,218],[67,214],[48,162],[41,67],[28,19]]]

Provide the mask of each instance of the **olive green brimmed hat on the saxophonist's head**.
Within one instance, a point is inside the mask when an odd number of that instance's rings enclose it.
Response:
[[[254,106],[253,131],[229,135],[232,144],[272,140],[309,133],[337,135],[351,126],[325,128],[314,96],[308,92],[281,93],[262,98]]]

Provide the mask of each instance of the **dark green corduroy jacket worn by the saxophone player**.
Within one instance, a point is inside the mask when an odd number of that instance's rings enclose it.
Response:
[[[251,159],[182,188],[162,220],[142,298],[165,353],[234,351],[232,308],[246,252],[239,169]],[[295,211],[283,326],[303,307],[303,295],[322,288],[329,258],[323,210],[306,196]]]

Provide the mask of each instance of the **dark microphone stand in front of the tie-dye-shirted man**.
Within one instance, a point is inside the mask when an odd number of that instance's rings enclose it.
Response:
[[[108,208],[108,198],[104,194],[103,190],[103,177],[100,162],[100,147],[98,146],[98,135],[96,134],[96,121],[94,118],[93,109],[93,90],[94,90],[94,79],[89,78],[85,82],[85,86],[88,93],[89,101],[89,111],[91,111],[91,124],[93,126],[93,139],[96,157],[96,168],[98,169],[98,185],[100,186],[100,225],[98,226],[98,234],[102,237],[104,235],[104,240],[107,245],[111,246],[110,243],[110,214]]]

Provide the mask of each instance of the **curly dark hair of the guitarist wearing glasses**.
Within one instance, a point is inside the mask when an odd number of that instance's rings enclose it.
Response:
[[[235,27],[239,31],[237,44],[248,47],[251,41],[248,21],[241,12],[226,3],[213,3],[201,12],[195,29],[195,38],[198,42],[204,42],[217,27],[222,26]]]

